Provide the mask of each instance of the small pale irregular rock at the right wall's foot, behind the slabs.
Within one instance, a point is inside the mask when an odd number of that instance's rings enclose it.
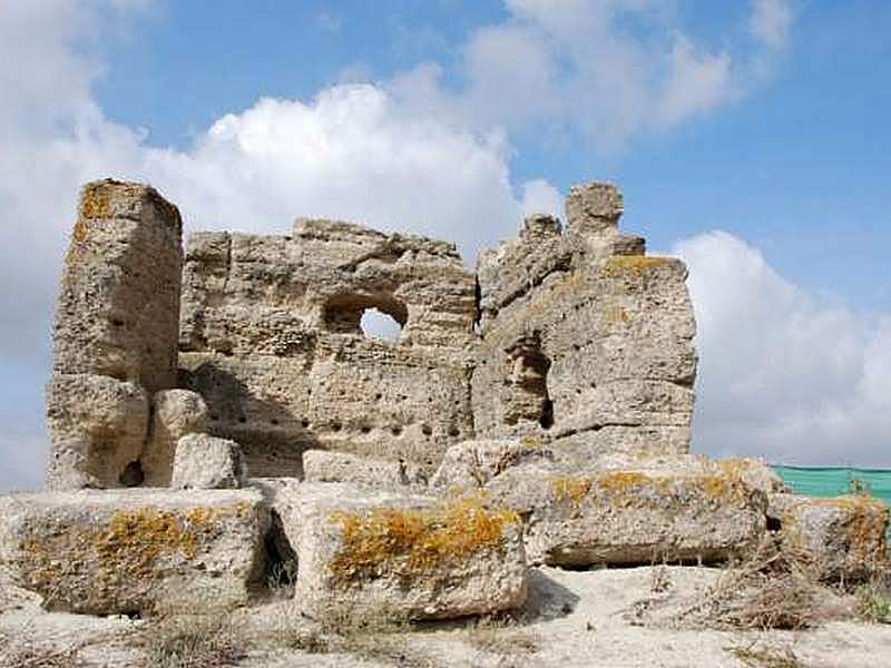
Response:
[[[430,487],[439,490],[481,488],[511,466],[552,459],[554,452],[531,436],[464,441],[446,451]]]

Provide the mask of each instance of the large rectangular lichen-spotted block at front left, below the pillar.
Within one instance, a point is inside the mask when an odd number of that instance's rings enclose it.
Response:
[[[51,610],[224,608],[261,577],[260,492],[97,490],[0,497],[0,563]]]

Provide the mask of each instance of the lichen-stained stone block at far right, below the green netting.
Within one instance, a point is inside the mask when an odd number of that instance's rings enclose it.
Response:
[[[888,507],[861,495],[771,494],[767,515],[783,541],[804,548],[824,580],[859,580],[887,559]]]

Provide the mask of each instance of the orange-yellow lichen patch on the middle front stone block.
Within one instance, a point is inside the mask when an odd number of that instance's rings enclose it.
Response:
[[[339,586],[393,573],[410,578],[472,554],[501,550],[505,529],[519,523],[508,510],[487,510],[480,498],[464,498],[425,510],[376,508],[333,512],[342,549],[329,563]]]

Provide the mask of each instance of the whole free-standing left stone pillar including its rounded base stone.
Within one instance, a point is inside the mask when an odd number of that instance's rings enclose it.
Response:
[[[149,396],[177,374],[182,220],[148,186],[85,186],[53,327],[55,489],[141,482]]]

